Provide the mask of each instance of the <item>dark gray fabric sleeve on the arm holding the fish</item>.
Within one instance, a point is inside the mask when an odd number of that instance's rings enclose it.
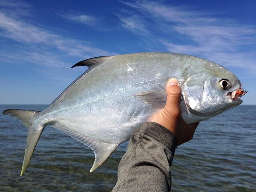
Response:
[[[170,191],[170,166],[176,147],[172,132],[157,123],[144,123],[130,138],[112,192]]]

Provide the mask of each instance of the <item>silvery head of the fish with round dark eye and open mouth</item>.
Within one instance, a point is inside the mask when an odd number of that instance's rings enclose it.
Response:
[[[235,97],[239,88],[240,80],[232,72],[209,62],[189,73],[182,95],[190,112],[197,116],[216,116],[242,103]]]

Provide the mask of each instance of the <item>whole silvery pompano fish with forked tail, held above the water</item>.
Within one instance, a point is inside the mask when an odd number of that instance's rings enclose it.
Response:
[[[172,77],[182,88],[182,117],[190,124],[242,103],[238,78],[226,68],[195,56],[149,52],[96,57],[44,111],[8,109],[28,128],[22,176],[44,128],[49,125],[89,146],[98,168],[136,128],[166,104]]]

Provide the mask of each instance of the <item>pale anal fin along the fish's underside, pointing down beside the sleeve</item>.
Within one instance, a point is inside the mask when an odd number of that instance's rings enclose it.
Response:
[[[71,136],[72,138],[78,140],[79,142],[87,145],[90,147],[94,154],[95,154],[95,160],[92,165],[92,168],[90,172],[93,172],[96,170],[99,166],[102,165],[102,163],[116,150],[118,147],[118,144],[108,144],[104,142],[95,141],[93,139],[87,138],[85,136],[82,136],[72,130],[68,130],[67,128],[64,128],[62,126],[59,126],[58,124],[51,125],[53,128],[56,128],[57,130]]]

